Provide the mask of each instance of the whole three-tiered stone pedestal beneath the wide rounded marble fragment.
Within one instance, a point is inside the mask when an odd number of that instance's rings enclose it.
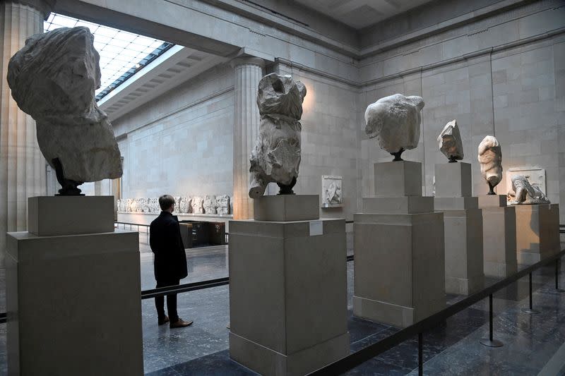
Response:
[[[407,327],[445,308],[444,220],[417,162],[375,164],[377,197],[355,214],[353,314]]]

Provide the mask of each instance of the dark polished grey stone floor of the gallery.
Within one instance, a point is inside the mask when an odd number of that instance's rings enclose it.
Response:
[[[142,236],[141,248],[146,248]],[[561,248],[565,246],[561,243]],[[227,276],[227,247],[194,248],[187,251],[189,277],[183,283]],[[344,260],[345,262],[345,260]],[[351,315],[353,262],[347,262],[348,308],[351,351],[379,341],[396,328]],[[482,346],[488,330],[488,302],[473,305],[451,317],[444,325],[424,333],[426,375],[565,375],[565,293],[554,291],[554,267],[533,277],[534,305],[541,311],[528,315],[528,280],[523,279],[494,296],[494,333],[501,348]],[[141,255],[142,289],[153,289],[153,260]],[[561,267],[561,287],[565,267]],[[494,279],[489,279],[492,284]],[[0,269],[0,312],[6,309],[5,273]],[[460,300],[448,296],[448,302]],[[142,301],[143,356],[146,375],[256,375],[229,358],[230,321],[228,286],[182,293],[179,315],[194,320],[184,329],[157,326],[153,299]],[[40,319],[40,313],[38,313]],[[6,375],[6,324],[0,324],[0,375]],[[417,341],[412,339],[364,363],[350,375],[417,375]]]

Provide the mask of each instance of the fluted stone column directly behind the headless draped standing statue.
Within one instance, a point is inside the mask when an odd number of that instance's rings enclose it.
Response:
[[[234,219],[253,218],[249,198],[249,155],[259,130],[258,84],[265,63],[255,57],[240,57],[234,67]]]

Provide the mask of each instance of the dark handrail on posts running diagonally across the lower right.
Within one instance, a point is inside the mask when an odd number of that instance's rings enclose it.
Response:
[[[510,277],[506,277],[501,281],[496,282],[492,286],[483,289],[477,293],[468,296],[467,298],[463,299],[462,301],[458,301],[457,303],[450,305],[448,308],[431,315],[424,320],[415,323],[414,325],[410,325],[410,327],[406,327],[404,329],[400,329],[400,331],[392,334],[391,336],[382,339],[375,344],[371,344],[367,347],[362,348],[355,353],[350,354],[349,356],[345,356],[339,360],[336,360],[333,363],[330,363],[319,370],[309,373],[309,376],[314,375],[341,375],[352,368],[357,367],[358,365],[362,365],[367,360],[371,360],[372,358],[381,355],[381,353],[390,350],[391,348],[398,346],[402,342],[411,339],[414,336],[418,336],[418,345],[419,349],[422,348],[422,334],[427,332],[429,329],[432,329],[442,322],[444,322],[449,317],[459,313],[460,311],[469,308],[471,305],[477,303],[478,301],[487,298],[489,296],[489,307],[490,307],[490,331],[491,331],[491,339],[492,339],[492,294],[496,291],[504,289],[504,287],[513,284],[518,279],[525,277],[526,274],[530,274],[530,308],[531,308],[531,274],[536,269],[549,264],[549,262],[555,261],[557,262],[556,270],[555,270],[555,277],[556,277],[556,286],[557,286],[557,279],[559,278],[559,259],[565,255],[565,249],[561,250],[559,253],[547,257],[540,262],[536,262],[525,269],[522,269],[516,274],[511,275]],[[419,374],[422,375],[422,351],[419,351]]]

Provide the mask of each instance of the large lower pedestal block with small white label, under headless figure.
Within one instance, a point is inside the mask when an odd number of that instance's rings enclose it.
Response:
[[[231,358],[304,375],[348,353],[345,221],[231,221]]]

